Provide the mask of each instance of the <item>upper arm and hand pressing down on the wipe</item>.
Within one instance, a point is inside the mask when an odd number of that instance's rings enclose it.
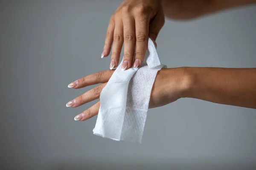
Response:
[[[156,45],[165,17],[190,20],[253,3],[256,0],[124,0],[110,18],[102,58],[110,54],[112,45],[110,69],[115,68],[124,45],[122,67],[140,67],[145,57],[148,37]]]

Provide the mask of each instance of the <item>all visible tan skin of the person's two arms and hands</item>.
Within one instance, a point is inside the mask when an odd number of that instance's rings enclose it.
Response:
[[[125,0],[111,16],[102,56],[111,54],[111,70],[101,71],[70,83],[79,89],[101,85],[67,103],[76,108],[99,99],[119,63],[124,44],[123,68],[140,67],[144,60],[148,37],[156,45],[164,17],[190,20],[229,8],[256,3],[256,0]],[[136,47],[136,48],[135,48]],[[135,50],[136,49],[136,50]],[[134,55],[135,54],[135,55]],[[256,68],[166,68],[158,71],[149,108],[160,107],[180,98],[195,98],[224,105],[256,109]],[[75,117],[87,120],[98,114],[100,103]]]

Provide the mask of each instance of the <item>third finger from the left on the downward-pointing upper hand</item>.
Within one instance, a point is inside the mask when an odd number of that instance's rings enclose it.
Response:
[[[122,70],[124,71],[132,65],[136,39],[134,18],[128,13],[124,13],[122,16],[124,26],[124,59],[122,63]]]

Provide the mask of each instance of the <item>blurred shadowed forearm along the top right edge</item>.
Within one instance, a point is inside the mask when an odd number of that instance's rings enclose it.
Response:
[[[256,0],[162,0],[162,7],[166,17],[186,20],[253,3]]]

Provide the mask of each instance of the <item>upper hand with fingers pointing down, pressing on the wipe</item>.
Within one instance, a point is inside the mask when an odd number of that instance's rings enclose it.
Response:
[[[125,0],[111,16],[102,58],[109,55],[113,43],[110,69],[117,67],[124,42],[122,70],[132,65],[134,68],[140,67],[145,57],[148,37],[155,43],[163,25],[164,14],[160,0]]]

